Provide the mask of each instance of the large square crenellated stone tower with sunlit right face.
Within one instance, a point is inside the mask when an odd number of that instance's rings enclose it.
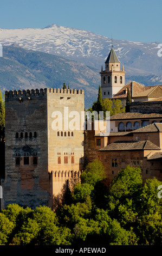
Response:
[[[54,198],[68,181],[79,178],[84,163],[84,131],[69,129],[64,122],[68,113],[72,121],[73,111],[81,117],[83,90],[5,92],[4,207],[17,203],[53,208]],[[57,120],[59,113],[62,123]],[[62,127],[56,130],[54,123]]]

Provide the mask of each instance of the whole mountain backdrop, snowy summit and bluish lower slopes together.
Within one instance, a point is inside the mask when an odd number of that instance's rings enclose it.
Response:
[[[106,36],[55,24],[38,29],[0,29],[0,43],[3,45],[3,56],[8,58],[9,62],[9,66],[7,64],[3,66],[2,58],[0,58],[0,88],[2,90],[22,88],[22,86],[28,87],[28,89],[31,86],[34,88],[40,86],[62,87],[65,82],[66,84],[70,83],[73,88],[86,90],[85,102],[88,107],[96,100],[101,66],[105,64],[112,47],[112,39],[106,38]],[[16,59],[14,48],[11,51],[8,48],[6,56],[7,48],[5,47],[17,48],[18,58]],[[113,47],[121,66],[124,65],[126,84],[132,80],[145,86],[162,84],[162,57],[158,57],[157,54],[158,42],[113,40]],[[22,49],[32,52],[31,62],[32,58],[38,58],[38,63],[42,63],[42,70],[40,65],[37,66],[37,62],[35,62],[34,69],[31,70],[29,54],[27,63],[24,60],[24,63],[21,62],[23,56],[21,54],[24,54]],[[44,57],[43,53],[47,56]],[[45,58],[45,62],[43,62],[43,58]],[[50,61],[53,66],[48,64]],[[14,63],[11,65],[11,62]],[[28,64],[30,65],[28,66]],[[18,65],[20,68],[17,68]],[[22,70],[22,74],[20,74],[20,70]],[[5,83],[2,81],[2,76],[5,77]]]

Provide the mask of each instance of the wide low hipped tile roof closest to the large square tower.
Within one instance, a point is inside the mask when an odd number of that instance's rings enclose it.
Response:
[[[160,150],[160,148],[150,141],[116,141],[99,149],[99,151],[114,150]]]

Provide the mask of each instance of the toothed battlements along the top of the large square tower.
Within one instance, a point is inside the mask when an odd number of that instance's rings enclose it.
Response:
[[[84,94],[84,90],[76,90],[76,89],[56,89],[56,88],[44,88],[44,89],[27,89],[27,90],[6,90],[5,91],[5,99],[6,100],[14,100],[14,99],[32,99],[32,98],[46,98],[48,94],[66,94],[66,95],[72,95],[72,94]]]

